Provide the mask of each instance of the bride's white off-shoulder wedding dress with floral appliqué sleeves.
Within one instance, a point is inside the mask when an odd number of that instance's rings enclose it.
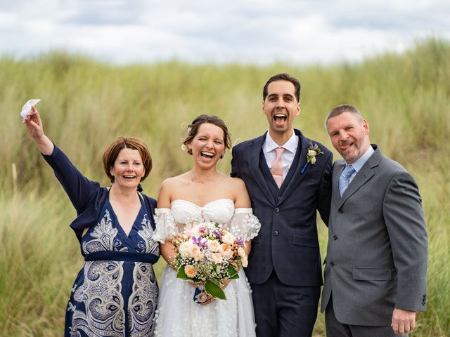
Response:
[[[172,209],[156,209],[153,239],[164,242],[173,234],[184,232],[188,220],[221,223],[236,237],[250,240],[261,225],[252,209],[235,209],[231,199],[218,199],[203,207],[190,201],[174,200]],[[250,284],[242,268],[239,278],[224,289],[226,300],[198,305],[194,289],[176,271],[167,266],[160,279],[158,310],[155,312],[155,336],[255,336]]]

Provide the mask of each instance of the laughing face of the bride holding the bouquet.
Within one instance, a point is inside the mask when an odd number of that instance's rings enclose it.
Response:
[[[215,166],[225,152],[224,131],[214,124],[203,123],[188,148],[196,164],[205,169]]]

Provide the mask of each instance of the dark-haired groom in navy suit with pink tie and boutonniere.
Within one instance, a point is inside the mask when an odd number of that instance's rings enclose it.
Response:
[[[293,128],[297,79],[271,77],[262,112],[269,132],[233,147],[231,161],[231,176],[245,181],[262,224],[245,270],[257,336],[311,336],[323,284],[316,210],[328,223],[333,155]]]

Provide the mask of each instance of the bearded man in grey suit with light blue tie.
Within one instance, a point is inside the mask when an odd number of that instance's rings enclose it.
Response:
[[[329,337],[386,337],[425,311],[428,238],[416,181],[368,139],[351,105],[326,117],[333,165],[321,312]],[[405,335],[406,336],[406,335]]]

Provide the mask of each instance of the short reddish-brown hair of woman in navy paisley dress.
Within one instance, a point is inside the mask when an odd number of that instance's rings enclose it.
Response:
[[[147,178],[148,173],[152,170],[152,157],[150,155],[150,150],[148,150],[148,146],[140,138],[121,136],[111,143],[105,152],[103,152],[103,169],[105,170],[106,176],[110,178],[111,183],[114,183],[114,177],[111,175],[110,171],[114,166],[115,159],[117,159],[117,156],[122,149],[137,150],[139,154],[141,154],[142,164],[144,169],[146,169],[146,173],[144,173],[141,181]]]

